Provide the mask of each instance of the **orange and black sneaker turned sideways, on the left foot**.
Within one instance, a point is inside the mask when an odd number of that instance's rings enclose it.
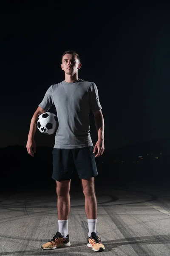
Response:
[[[43,244],[41,246],[42,249],[44,250],[53,250],[58,247],[67,247],[70,246],[70,241],[69,241],[69,235],[66,236],[66,238],[63,238],[61,233],[57,232],[54,237],[46,244]]]

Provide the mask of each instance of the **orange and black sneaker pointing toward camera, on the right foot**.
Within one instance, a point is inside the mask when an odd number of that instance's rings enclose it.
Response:
[[[101,239],[97,236],[95,232],[91,233],[91,236],[88,237],[88,247],[93,248],[96,252],[102,252],[105,250],[105,246],[101,243]]]

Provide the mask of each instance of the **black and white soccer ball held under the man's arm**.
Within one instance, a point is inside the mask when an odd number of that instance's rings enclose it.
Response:
[[[37,119],[37,128],[42,134],[54,134],[57,128],[57,116],[51,112],[42,113]]]

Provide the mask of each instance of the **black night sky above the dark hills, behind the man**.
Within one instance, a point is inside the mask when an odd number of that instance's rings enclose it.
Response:
[[[105,148],[169,138],[168,1],[56,2],[0,6],[0,147],[26,145],[46,90],[64,80],[68,49],[80,55],[79,78],[98,87]],[[37,131],[36,142],[54,137]]]

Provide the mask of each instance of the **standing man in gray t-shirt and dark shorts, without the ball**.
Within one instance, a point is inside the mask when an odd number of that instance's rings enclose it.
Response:
[[[70,212],[70,183],[73,165],[81,179],[85,195],[85,213],[88,219],[88,247],[94,251],[105,250],[96,234],[97,202],[94,189],[94,177],[98,175],[95,157],[104,152],[104,119],[96,84],[78,78],[81,68],[80,58],[75,51],[66,51],[62,55],[61,68],[65,80],[48,88],[42,102],[35,111],[28,134],[27,151],[34,156],[36,144],[37,118],[55,105],[59,127],[53,148],[52,178],[57,185],[57,214],[59,230],[42,249],[70,246],[68,235],[68,215]],[[93,111],[98,140],[93,146],[90,136],[89,111]],[[96,153],[96,155],[95,155]]]

